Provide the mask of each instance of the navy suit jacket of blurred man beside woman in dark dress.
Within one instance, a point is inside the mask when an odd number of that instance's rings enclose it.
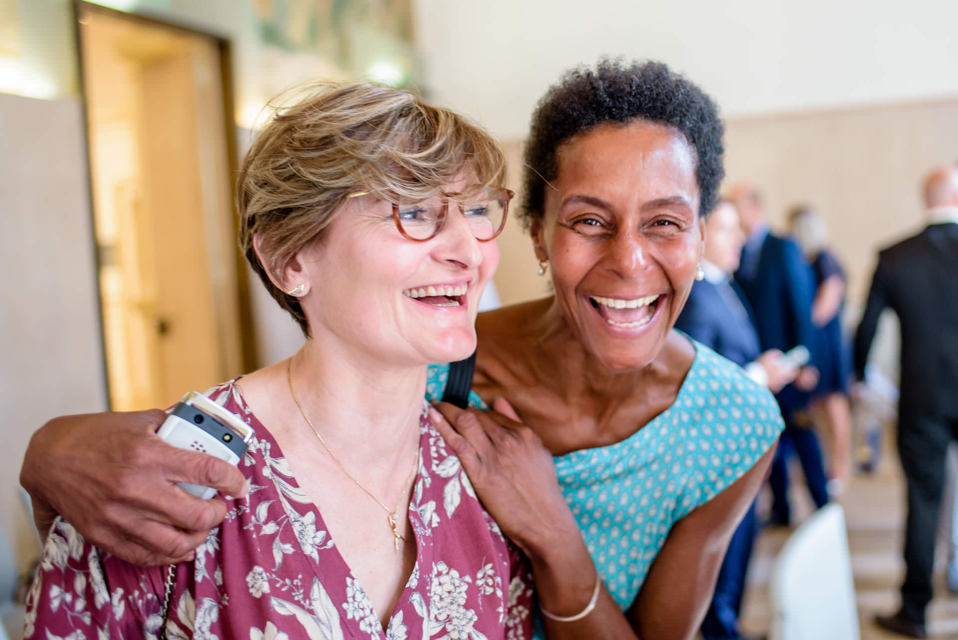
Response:
[[[746,275],[740,269],[735,278],[752,307],[762,351],[787,352],[802,345],[814,354],[814,274],[795,242],[769,233],[752,273]],[[813,357],[810,364],[814,364]],[[810,394],[789,384],[776,398],[787,413],[805,408]]]

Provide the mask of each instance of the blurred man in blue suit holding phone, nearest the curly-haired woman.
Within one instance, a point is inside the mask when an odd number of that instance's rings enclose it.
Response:
[[[798,371],[783,358],[782,352],[761,352],[748,302],[731,279],[739,268],[744,243],[735,207],[728,201],[719,202],[705,223],[703,279],[692,287],[675,327],[741,365],[748,377],[775,393],[791,382]],[[756,532],[753,503],[725,552],[712,604],[702,622],[704,640],[741,638],[741,596]]]

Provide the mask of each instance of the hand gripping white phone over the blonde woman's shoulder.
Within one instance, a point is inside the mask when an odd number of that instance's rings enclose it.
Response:
[[[231,495],[245,492],[239,470],[212,456],[167,445],[160,410],[65,416],[34,433],[20,483],[46,535],[60,514],[104,551],[135,564],[189,556],[225,515],[220,498],[200,500],[187,481]]]

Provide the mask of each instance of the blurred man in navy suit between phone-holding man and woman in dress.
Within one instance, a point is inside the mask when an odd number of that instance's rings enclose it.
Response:
[[[730,199],[739,211],[741,229],[745,232],[735,280],[752,306],[763,351],[787,352],[803,346],[814,353],[811,303],[815,287],[810,264],[795,242],[769,232],[762,197],[754,186],[736,186]],[[809,392],[818,381],[813,364],[803,367],[795,381],[776,395],[785,419],[785,431],[769,477],[773,524],[787,526],[791,522],[787,462],[792,452],[798,454],[815,506],[822,507],[829,501],[822,449],[808,414]]]

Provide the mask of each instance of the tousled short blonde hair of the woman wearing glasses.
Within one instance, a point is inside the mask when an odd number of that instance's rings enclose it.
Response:
[[[479,184],[501,184],[505,155],[483,128],[409,91],[324,82],[299,87],[295,96],[291,105],[273,107],[243,160],[239,246],[308,335],[299,300],[273,285],[269,274],[282,283],[285,265],[321,237],[347,196],[365,191],[419,202],[463,171]]]

